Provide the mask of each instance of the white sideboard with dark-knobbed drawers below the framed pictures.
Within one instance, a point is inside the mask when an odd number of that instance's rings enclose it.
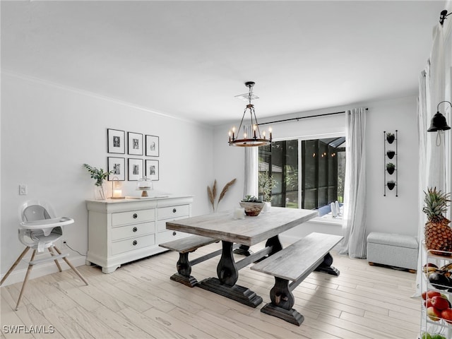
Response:
[[[86,265],[112,273],[122,263],[167,251],[158,244],[189,234],[166,229],[166,222],[191,216],[193,196],[88,200]]]

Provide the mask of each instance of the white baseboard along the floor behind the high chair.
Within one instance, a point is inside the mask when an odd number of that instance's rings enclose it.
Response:
[[[73,266],[83,266],[85,265],[86,258],[84,256],[70,256],[69,261],[71,261],[71,264]],[[68,266],[68,264],[64,260],[59,260],[59,264],[61,266],[62,270],[70,270],[71,268]],[[58,272],[57,265],[53,261],[50,261],[49,263],[42,263],[41,265],[36,265],[33,267],[31,273],[30,273],[30,279],[33,278],[39,278],[44,275],[48,275],[51,273]],[[6,272],[5,272],[6,273]],[[5,282],[3,283],[3,286],[13,285],[15,283],[21,283],[23,282],[23,278],[25,278],[25,273],[27,273],[27,268],[16,268],[11,272],[11,274],[6,278]],[[3,278],[4,275],[1,275],[1,278]]]

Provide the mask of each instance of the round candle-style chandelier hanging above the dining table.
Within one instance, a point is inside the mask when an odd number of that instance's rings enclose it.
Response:
[[[252,146],[265,146],[271,143],[271,128],[268,129],[269,136],[266,138],[266,131],[261,131],[259,129],[259,125],[256,119],[256,112],[254,112],[254,105],[251,104],[252,99],[258,99],[256,95],[253,94],[253,86],[254,82],[249,81],[245,83],[246,87],[249,88],[249,93],[244,95],[238,95],[239,97],[244,97],[248,101],[248,105],[246,105],[245,110],[243,112],[242,121],[240,121],[239,129],[235,129],[235,126],[229,131],[229,145],[230,146],[241,146],[241,147],[252,147]],[[250,124],[252,126],[252,130],[249,130],[248,135],[245,131],[245,125],[243,124],[243,120],[245,118],[246,112],[249,111],[250,115]],[[243,138],[239,138],[240,131],[242,130]]]

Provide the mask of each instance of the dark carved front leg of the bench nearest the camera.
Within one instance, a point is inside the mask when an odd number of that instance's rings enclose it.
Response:
[[[295,304],[295,297],[290,291],[289,280],[275,277],[275,285],[270,290],[270,300],[269,304],[262,307],[261,312],[276,316],[297,326],[302,324],[304,316],[292,309]]]

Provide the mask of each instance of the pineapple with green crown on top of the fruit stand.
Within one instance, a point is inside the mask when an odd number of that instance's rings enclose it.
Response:
[[[424,237],[427,249],[452,252],[452,229],[448,226],[451,220],[444,217],[447,211],[447,203],[450,201],[449,194],[441,193],[434,189],[427,189],[425,193],[422,212],[427,214]],[[432,251],[438,255],[448,255],[443,252]]]

